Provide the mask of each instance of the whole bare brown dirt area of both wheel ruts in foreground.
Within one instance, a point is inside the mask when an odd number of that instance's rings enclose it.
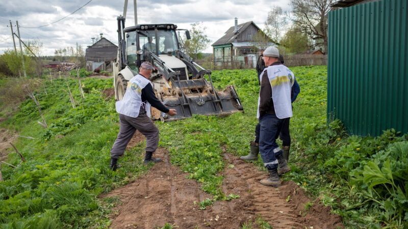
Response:
[[[167,222],[179,228],[240,228],[249,221],[252,221],[252,228],[257,228],[254,223],[257,215],[273,228],[333,228],[342,225],[340,218],[329,211],[315,212],[315,207],[321,208],[317,204],[309,209],[306,217],[299,215],[302,203],[309,199],[296,189],[296,184],[285,182],[279,188],[263,186],[259,180],[267,176],[265,172],[230,154],[224,154],[227,164],[222,173],[222,189],[225,194],[234,193],[240,198],[230,202],[217,201],[206,210],[199,210],[198,203],[211,196],[200,189],[199,183],[186,179],[185,173],[169,163],[165,149],[158,149],[155,155],[164,162],[156,164],[134,183],[107,195],[119,196],[122,201],[111,216],[112,228],[157,228]],[[287,193],[294,196],[289,203],[286,202]],[[300,197],[296,198],[297,195]]]

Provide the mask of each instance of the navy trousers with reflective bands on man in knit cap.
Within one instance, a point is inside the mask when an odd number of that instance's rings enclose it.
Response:
[[[278,166],[276,156],[282,155],[282,150],[276,143],[278,133],[281,132],[283,119],[267,114],[259,118],[260,135],[259,151],[265,167],[275,169]]]

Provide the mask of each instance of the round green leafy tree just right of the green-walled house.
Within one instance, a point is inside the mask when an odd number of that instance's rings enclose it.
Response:
[[[280,43],[288,53],[304,52],[309,50],[311,46],[308,35],[302,33],[296,26],[289,28]]]

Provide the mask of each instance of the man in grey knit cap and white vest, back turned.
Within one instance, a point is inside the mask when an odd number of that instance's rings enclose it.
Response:
[[[263,54],[265,66],[268,67],[260,75],[257,118],[261,126],[259,150],[269,171],[269,178],[261,180],[261,184],[277,187],[281,184],[278,170],[279,174],[290,171],[276,138],[281,132],[283,122],[292,117],[291,88],[295,76],[279,62],[279,51],[276,47],[266,48]]]

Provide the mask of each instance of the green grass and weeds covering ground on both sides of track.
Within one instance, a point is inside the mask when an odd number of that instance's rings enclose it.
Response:
[[[408,226],[408,136],[387,130],[377,138],[348,136],[339,120],[326,119],[327,68],[291,68],[301,88],[291,119],[293,180],[313,198],[343,217],[347,227]],[[4,85],[6,80],[1,80]],[[212,201],[228,198],[220,188],[219,172],[225,162],[222,150],[246,155],[257,124],[258,80],[254,70],[213,72],[216,88],[233,84],[244,113],[218,118],[193,118],[160,123],[160,147],[170,152],[171,163],[202,184]],[[15,153],[3,165],[0,182],[0,227],[60,228],[107,227],[113,204],[99,199],[143,175],[144,143],[126,151],[121,168],[108,169],[109,150],[118,132],[114,99],[103,96],[112,79],[69,79],[76,108],[72,108],[66,82],[44,82],[47,94],[37,91],[48,129],[42,128],[38,109],[28,99],[0,127],[24,136],[16,147],[27,159],[20,163]],[[255,163],[264,169],[259,159]],[[205,203],[203,203],[204,205]],[[211,204],[211,203],[209,203]]]

